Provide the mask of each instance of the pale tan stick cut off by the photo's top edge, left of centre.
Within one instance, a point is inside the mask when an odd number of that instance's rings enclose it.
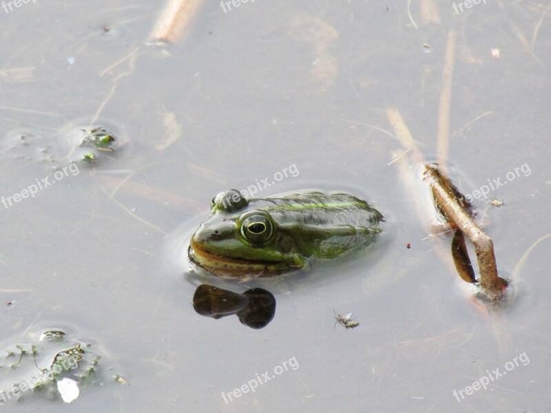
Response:
[[[202,3],[203,0],[168,0],[149,40],[178,41]]]

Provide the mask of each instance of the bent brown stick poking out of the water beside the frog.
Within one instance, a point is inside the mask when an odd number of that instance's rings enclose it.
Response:
[[[456,194],[450,190],[446,178],[434,167],[425,165],[425,178],[430,184],[435,201],[446,218],[457,225],[470,242],[474,244],[480,271],[480,286],[490,299],[500,299],[505,293],[507,282],[497,275],[494,243],[472,220],[464,207],[459,204]]]

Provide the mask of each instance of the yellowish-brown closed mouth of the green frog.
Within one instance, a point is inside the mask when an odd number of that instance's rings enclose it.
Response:
[[[250,261],[241,258],[223,257],[205,251],[198,247],[193,240],[187,250],[189,260],[201,268],[218,275],[219,277],[264,277],[284,272],[288,266],[281,262]]]

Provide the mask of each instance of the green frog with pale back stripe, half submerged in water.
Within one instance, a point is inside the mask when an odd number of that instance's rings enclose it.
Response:
[[[191,236],[191,262],[220,277],[264,277],[358,250],[382,231],[383,215],[347,193],[247,199],[231,189],[211,202]]]

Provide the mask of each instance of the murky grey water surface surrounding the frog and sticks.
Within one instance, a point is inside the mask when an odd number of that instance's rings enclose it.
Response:
[[[544,410],[551,237],[534,243],[550,228],[549,5],[412,1],[409,17],[407,3],[212,2],[167,46],[145,45],[161,9],[151,2],[0,9],[0,350],[40,345],[44,329],[91,344],[101,359],[76,412]],[[500,275],[516,276],[498,311],[461,293],[450,235],[426,239],[430,223],[388,165],[401,151],[389,107],[435,158],[450,30],[448,160],[473,196],[500,180],[474,202]],[[83,156],[74,134],[92,124],[116,151],[71,164]],[[212,196],[257,182],[269,183],[260,197],[355,193],[384,213],[384,235],[357,260],[281,280],[194,271],[187,242]],[[254,330],[201,317],[191,300],[204,283],[269,290],[273,320]],[[333,330],[333,310],[360,326]],[[12,359],[4,390],[36,372],[28,354],[21,370]],[[54,393],[4,408],[57,411]]]

